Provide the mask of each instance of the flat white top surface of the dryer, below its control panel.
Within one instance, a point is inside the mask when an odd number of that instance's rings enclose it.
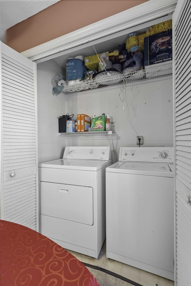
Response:
[[[111,164],[111,160],[77,160],[77,159],[58,159],[39,163],[38,167],[54,169],[70,169],[84,171],[98,171],[99,169]]]

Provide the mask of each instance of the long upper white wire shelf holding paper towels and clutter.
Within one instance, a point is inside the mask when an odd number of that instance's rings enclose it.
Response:
[[[103,78],[99,77],[99,79],[83,81],[76,85],[65,86],[62,92],[64,94],[72,94],[82,91],[91,91],[98,88],[117,86],[136,81],[138,82],[140,80],[153,79],[170,74],[172,74],[172,62],[145,66],[145,69],[124,74],[112,75],[112,73],[110,73],[107,77],[103,76]]]

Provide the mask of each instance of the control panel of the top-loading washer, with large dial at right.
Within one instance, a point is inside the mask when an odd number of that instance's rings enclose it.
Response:
[[[173,147],[120,147],[119,161],[173,163]]]

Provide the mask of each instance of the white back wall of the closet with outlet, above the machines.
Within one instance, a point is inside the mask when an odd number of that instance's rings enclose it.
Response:
[[[137,134],[144,137],[143,146],[173,146],[172,79],[126,85],[124,92],[121,86],[112,90],[67,95],[66,103],[69,113],[90,116],[109,114],[116,122],[116,134],[112,137],[117,151],[122,146],[137,147]],[[83,138],[68,137],[67,144],[112,146],[108,140],[110,136]]]

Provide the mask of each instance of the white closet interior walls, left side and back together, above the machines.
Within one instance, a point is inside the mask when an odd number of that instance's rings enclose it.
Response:
[[[64,146],[112,147],[110,135],[57,136],[57,117],[67,112],[74,113],[74,118],[82,113],[91,117],[109,114],[111,121],[116,122],[116,133],[112,138],[117,153],[121,146],[137,147],[137,134],[144,138],[143,147],[173,146],[172,78],[129,84],[124,89],[121,85],[113,89],[55,96],[51,80],[62,72],[60,67],[50,60],[38,64],[37,71],[39,162],[61,158]],[[118,160],[113,152],[112,160]]]

